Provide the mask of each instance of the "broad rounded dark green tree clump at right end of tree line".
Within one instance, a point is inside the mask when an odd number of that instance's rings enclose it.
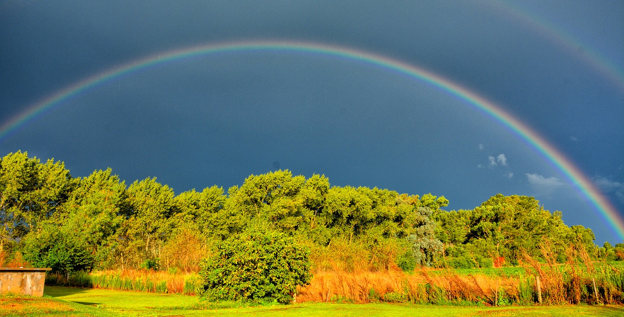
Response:
[[[550,213],[534,197],[497,194],[472,211],[441,211],[435,218],[439,224],[436,235],[444,242],[447,255],[466,257],[462,263],[470,257],[475,265],[489,265],[485,258],[504,257],[515,265],[521,250],[539,257],[537,246],[543,239],[552,242],[560,262],[565,261],[569,244],[583,244],[593,253],[591,230],[567,227],[561,212]]]

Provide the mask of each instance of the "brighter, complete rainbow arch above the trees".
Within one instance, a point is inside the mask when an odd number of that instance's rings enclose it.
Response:
[[[10,133],[16,131],[20,126],[24,125],[28,121],[34,120],[55,106],[62,105],[62,102],[67,100],[67,98],[79,95],[80,93],[94,88],[101,83],[109,82],[110,80],[136,72],[137,70],[147,69],[148,67],[163,64],[165,62],[171,62],[173,60],[181,60],[200,55],[217,53],[227,54],[228,52],[265,51],[316,54],[373,65],[374,67],[390,70],[406,77],[413,78],[414,80],[427,83],[454,98],[466,102],[468,105],[486,113],[495,121],[499,121],[502,125],[509,128],[512,133],[519,136],[522,140],[527,141],[527,143],[537,149],[537,151],[539,151],[540,154],[552,163],[555,168],[562,171],[565,177],[572,182],[573,186],[576,187],[578,191],[583,194],[583,196],[588,198],[595,211],[602,215],[603,219],[612,226],[621,238],[624,238],[624,221],[622,216],[618,213],[617,209],[612,206],[608,199],[600,193],[593,182],[588,179],[580,171],[580,169],[572,164],[569,159],[565,158],[562,153],[544,140],[544,138],[539,136],[524,123],[516,120],[513,116],[506,113],[499,106],[489,102],[485,98],[480,97],[474,92],[470,92],[466,88],[457,85],[457,83],[436,75],[436,73],[429,72],[414,65],[406,64],[399,60],[389,59],[388,57],[381,55],[334,45],[287,41],[227,42],[223,44],[193,46],[186,49],[172,50],[170,52],[152,55],[82,80],[81,82],[75,83],[64,90],[61,90],[51,97],[41,100],[41,102],[35,103],[26,111],[21,113],[21,115],[17,115],[12,118],[12,120],[9,120],[4,123],[4,125],[0,126],[0,141],[4,140]]]

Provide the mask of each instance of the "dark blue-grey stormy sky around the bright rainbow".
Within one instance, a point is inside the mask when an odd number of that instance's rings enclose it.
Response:
[[[120,64],[239,40],[339,45],[428,69],[537,131],[624,214],[621,1],[2,1],[0,123]],[[18,149],[74,176],[110,167],[177,193],[278,166],[443,195],[448,209],[531,195],[597,244],[622,239],[500,123],[426,83],[323,55],[205,55],[130,73],[0,140],[0,154]]]

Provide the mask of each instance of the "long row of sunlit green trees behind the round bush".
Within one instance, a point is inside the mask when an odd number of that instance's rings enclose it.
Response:
[[[227,192],[211,186],[176,195],[155,177],[130,185],[111,169],[72,177],[61,161],[18,151],[0,161],[0,260],[22,257],[55,272],[193,272],[250,227],[292,237],[317,262],[338,252],[331,258],[358,258],[373,268],[515,265],[520,252],[534,252],[544,239],[560,247],[561,261],[569,244],[595,257],[624,255],[624,245],[598,248],[592,230],[568,227],[561,212],[545,210],[534,197],[498,194],[472,210],[444,211],[447,205],[443,196],[330,186],[324,175],[288,170],[251,175]],[[361,250],[368,250],[364,258]]]

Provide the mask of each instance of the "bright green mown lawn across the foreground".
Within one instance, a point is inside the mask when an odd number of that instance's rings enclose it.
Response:
[[[43,298],[0,296],[0,316],[624,316],[624,306],[433,306],[389,303],[239,306],[195,296],[47,286]]]

